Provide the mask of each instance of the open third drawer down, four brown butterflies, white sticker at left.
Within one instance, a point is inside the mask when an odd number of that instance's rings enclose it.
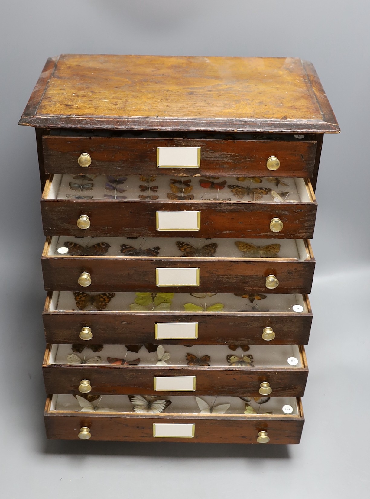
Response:
[[[42,253],[47,291],[303,294],[314,269],[305,240],[53,237]]]

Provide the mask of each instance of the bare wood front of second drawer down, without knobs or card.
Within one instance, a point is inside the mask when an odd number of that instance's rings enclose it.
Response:
[[[157,230],[158,213],[192,211],[200,212],[199,229]],[[316,212],[316,203],[41,200],[45,236],[312,239]],[[81,215],[88,229],[77,227]],[[283,222],[279,232],[270,229],[274,218]]]

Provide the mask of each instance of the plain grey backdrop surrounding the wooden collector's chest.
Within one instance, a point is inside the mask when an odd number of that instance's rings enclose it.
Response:
[[[347,498],[369,490],[369,14],[344,0],[22,0],[1,7],[0,467],[6,499]],[[299,56],[342,128],[319,175],[300,446],[47,442],[44,242],[34,131],[17,121],[59,53]],[[6,490],[4,490],[6,489]]]

